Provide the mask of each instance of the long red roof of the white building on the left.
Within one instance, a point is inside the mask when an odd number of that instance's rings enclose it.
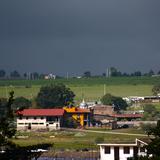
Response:
[[[63,109],[24,109],[18,114],[23,116],[63,116]]]

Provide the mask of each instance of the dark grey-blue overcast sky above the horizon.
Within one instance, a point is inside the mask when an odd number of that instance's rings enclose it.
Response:
[[[160,0],[0,0],[0,69],[160,70]]]

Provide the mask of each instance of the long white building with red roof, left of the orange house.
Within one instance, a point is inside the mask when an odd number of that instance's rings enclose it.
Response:
[[[63,109],[24,109],[17,112],[17,130],[60,129]]]

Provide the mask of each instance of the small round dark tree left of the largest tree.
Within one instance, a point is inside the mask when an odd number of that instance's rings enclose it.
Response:
[[[24,97],[17,97],[14,99],[14,102],[12,104],[12,107],[14,109],[27,109],[30,108],[32,106],[32,103],[30,100],[28,100],[27,98]]]

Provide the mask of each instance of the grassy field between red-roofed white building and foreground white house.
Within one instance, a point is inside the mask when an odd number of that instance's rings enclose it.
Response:
[[[135,131],[134,131],[135,130]],[[124,133],[142,133],[137,129],[118,130]],[[117,132],[115,130],[115,132]],[[56,132],[28,132],[18,133],[17,135],[28,136],[26,139],[13,139],[12,141],[21,146],[33,145],[38,143],[53,143],[55,149],[83,149],[97,148],[95,139],[103,137],[105,142],[134,142],[137,136],[114,135],[104,133],[83,133],[78,131],[56,131]],[[50,137],[54,136],[54,137]],[[139,137],[139,138],[143,138]]]

